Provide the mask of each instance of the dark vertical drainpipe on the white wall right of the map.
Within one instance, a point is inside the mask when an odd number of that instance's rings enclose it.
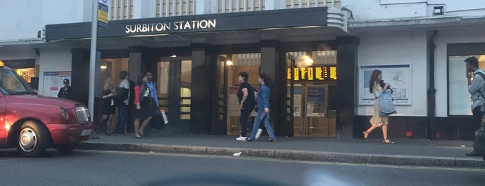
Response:
[[[436,89],[434,88],[434,37],[438,31],[427,31],[431,35],[427,42],[428,90],[427,90],[427,139],[436,140]]]

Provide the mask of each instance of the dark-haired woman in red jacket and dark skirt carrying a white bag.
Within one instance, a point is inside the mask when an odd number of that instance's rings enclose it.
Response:
[[[144,135],[144,128],[150,123],[151,117],[156,112],[155,100],[150,96],[151,92],[146,85],[148,78],[146,74],[140,74],[137,78],[137,85],[135,85],[135,122],[133,126],[135,127],[135,138],[141,138]],[[142,125],[139,122],[142,120]]]

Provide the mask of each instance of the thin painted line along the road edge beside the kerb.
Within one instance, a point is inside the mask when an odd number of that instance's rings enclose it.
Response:
[[[255,158],[232,155],[202,155],[202,154],[185,154],[185,153],[156,153],[156,152],[134,152],[134,151],[94,151],[94,150],[78,150],[90,153],[110,153],[110,154],[127,154],[127,155],[160,155],[160,156],[177,156],[177,157],[191,157],[191,158],[223,158],[230,160],[255,160],[266,162],[288,162],[300,164],[322,164],[322,165],[340,165],[349,167],[379,167],[391,169],[420,169],[420,170],[436,170],[436,171],[474,171],[485,172],[483,168],[469,168],[469,167],[424,167],[422,165],[392,165],[392,164],[364,164],[364,163],[347,163],[347,162],[314,162],[304,160],[284,160],[275,158]]]

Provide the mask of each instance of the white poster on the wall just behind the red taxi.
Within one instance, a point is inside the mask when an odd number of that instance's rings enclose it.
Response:
[[[71,82],[71,71],[44,71],[42,94],[44,96],[57,97],[60,88],[64,87],[62,83],[64,79],[69,79],[69,82]]]

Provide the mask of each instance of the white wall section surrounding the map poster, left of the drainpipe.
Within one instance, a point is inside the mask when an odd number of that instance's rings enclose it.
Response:
[[[412,104],[396,105],[397,115],[426,116],[425,31],[369,31],[356,36],[359,65],[411,65]],[[357,105],[357,115],[373,115],[373,105]]]

